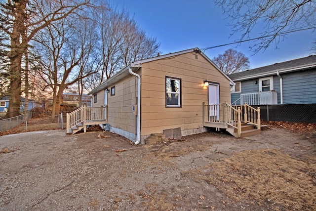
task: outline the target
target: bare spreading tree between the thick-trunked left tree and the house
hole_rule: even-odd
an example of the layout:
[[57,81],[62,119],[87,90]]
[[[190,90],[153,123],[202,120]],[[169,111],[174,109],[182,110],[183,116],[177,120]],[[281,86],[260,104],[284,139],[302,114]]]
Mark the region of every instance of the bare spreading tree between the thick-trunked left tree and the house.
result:
[[85,21],[88,19],[67,17],[47,26],[35,37],[40,74],[53,93],[52,120],[60,112],[65,88],[95,73],[94,68],[87,70],[84,64],[95,44],[93,29],[88,29]]

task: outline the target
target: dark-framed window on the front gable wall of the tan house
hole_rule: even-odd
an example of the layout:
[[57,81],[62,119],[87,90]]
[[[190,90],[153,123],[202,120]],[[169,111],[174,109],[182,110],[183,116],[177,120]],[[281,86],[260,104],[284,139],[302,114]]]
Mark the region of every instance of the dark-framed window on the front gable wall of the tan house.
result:
[[181,107],[181,79],[166,77],[166,107]]

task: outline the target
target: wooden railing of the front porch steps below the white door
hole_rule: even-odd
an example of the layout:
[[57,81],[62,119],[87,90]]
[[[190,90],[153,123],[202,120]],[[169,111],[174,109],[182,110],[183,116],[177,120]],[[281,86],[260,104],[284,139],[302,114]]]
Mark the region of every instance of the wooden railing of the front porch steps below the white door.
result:
[[260,107],[257,109],[247,105],[232,106],[228,103],[205,105],[203,103],[203,122],[211,127],[237,128],[238,137],[241,134],[241,123],[257,126],[260,130]]

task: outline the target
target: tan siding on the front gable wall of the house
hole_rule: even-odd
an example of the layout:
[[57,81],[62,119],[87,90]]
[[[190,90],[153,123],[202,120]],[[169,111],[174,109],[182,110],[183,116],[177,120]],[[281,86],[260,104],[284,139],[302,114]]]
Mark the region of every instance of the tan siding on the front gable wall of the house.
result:
[[[165,106],[166,76],[181,79],[181,108]],[[229,80],[200,55],[196,59],[194,53],[187,53],[143,64],[141,135],[175,127],[182,130],[202,128],[202,103],[208,103],[204,80],[219,83],[220,103],[230,102]]]

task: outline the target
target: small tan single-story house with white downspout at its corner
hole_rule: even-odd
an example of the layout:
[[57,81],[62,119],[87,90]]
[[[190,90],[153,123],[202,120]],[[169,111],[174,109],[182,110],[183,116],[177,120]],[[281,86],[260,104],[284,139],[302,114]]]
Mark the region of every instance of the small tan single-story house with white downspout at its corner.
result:
[[232,125],[234,130],[235,108],[226,103],[231,101],[233,84],[198,48],[135,61],[89,93],[92,108],[82,107],[77,117],[69,114],[72,123],[67,132],[80,129],[76,125],[81,117],[90,121],[82,127],[108,124],[112,132],[136,144],[174,128],[182,136],[204,132],[206,127]]

